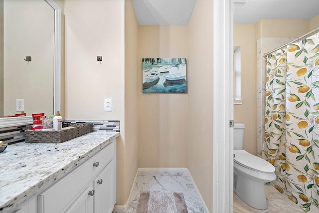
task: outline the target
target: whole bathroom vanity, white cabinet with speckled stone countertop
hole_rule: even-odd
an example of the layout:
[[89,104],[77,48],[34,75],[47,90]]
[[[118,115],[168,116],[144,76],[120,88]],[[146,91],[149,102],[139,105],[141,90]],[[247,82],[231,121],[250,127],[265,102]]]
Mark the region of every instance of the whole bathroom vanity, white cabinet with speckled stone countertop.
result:
[[8,146],[0,153],[0,212],[111,213],[118,136],[91,132],[60,144]]

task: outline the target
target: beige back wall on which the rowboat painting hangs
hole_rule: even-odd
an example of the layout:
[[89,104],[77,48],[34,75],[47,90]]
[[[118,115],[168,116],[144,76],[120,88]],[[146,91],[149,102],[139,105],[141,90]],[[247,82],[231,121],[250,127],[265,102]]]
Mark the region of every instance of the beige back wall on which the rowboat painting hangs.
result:
[[187,59],[187,26],[140,25],[138,49],[139,167],[185,168],[188,94],[144,94],[142,58]]

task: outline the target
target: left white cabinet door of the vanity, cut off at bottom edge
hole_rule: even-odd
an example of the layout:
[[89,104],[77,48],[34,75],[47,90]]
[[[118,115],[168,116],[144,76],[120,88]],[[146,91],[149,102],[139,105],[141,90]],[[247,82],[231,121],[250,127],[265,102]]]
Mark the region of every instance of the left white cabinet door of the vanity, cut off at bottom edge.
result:
[[65,213],[92,213],[93,195],[92,187],[87,187]]

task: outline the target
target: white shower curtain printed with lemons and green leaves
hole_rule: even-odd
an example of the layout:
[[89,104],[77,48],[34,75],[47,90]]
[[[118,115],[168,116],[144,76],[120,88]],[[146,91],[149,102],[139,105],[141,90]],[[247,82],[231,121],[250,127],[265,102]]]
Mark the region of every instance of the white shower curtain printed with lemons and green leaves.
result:
[[265,140],[271,184],[304,211],[319,212],[319,35],[267,56]]

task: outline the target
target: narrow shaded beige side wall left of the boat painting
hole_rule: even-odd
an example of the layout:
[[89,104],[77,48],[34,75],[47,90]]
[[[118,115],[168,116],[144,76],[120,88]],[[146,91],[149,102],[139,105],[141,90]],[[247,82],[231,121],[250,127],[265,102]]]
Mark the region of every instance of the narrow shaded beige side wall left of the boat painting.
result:
[[[131,192],[138,169],[138,23],[132,0],[125,0],[125,166],[124,201]],[[122,183],[118,183],[120,185]]]

